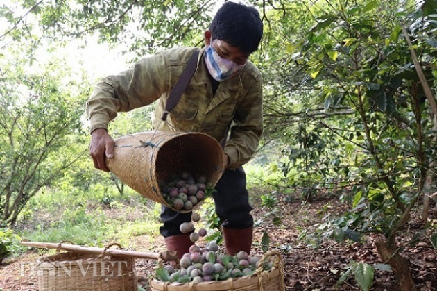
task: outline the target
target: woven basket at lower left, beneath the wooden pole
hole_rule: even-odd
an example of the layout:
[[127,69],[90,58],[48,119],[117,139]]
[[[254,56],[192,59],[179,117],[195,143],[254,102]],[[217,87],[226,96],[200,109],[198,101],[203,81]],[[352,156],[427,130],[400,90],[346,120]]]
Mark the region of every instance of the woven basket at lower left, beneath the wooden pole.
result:
[[40,291],[136,291],[135,258],[71,251],[37,260]]

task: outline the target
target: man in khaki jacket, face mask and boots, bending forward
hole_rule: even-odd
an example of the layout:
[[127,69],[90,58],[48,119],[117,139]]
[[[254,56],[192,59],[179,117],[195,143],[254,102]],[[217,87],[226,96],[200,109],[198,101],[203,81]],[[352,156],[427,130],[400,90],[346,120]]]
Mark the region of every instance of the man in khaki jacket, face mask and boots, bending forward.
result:
[[[104,78],[87,101],[92,135],[89,153],[94,167],[103,171],[108,171],[105,156],[113,157],[114,140],[107,131],[110,120],[117,112],[154,101],[155,129],[203,132],[223,142],[227,165],[213,198],[230,255],[249,253],[252,245],[252,208],[242,165],[255,153],[263,128],[262,76],[248,60],[258,48],[262,29],[255,8],[223,4],[205,31],[206,47],[200,49],[196,72],[166,122],[161,120],[166,100],[196,48],[169,49],[143,58],[132,69]],[[162,206],[161,220],[167,249],[181,257],[193,244],[189,234],[179,230],[182,222],[191,221],[191,213]]]

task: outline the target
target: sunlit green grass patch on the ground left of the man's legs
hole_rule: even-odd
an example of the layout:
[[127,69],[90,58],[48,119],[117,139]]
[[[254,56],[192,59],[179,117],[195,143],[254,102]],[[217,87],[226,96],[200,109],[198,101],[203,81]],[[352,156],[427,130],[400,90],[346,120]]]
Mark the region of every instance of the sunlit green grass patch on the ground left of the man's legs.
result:
[[29,203],[15,231],[33,242],[123,246],[138,235],[158,235],[159,213],[160,205],[133,191],[123,196],[46,192]]

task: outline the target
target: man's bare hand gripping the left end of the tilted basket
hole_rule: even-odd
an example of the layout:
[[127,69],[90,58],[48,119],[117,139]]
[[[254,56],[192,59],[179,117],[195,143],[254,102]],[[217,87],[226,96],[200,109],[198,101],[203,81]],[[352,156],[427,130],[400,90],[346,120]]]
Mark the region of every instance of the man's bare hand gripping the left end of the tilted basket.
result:
[[114,157],[114,140],[105,128],[97,128],[91,133],[91,144],[89,144],[89,155],[92,157],[94,167],[109,172],[105,164],[107,158]]

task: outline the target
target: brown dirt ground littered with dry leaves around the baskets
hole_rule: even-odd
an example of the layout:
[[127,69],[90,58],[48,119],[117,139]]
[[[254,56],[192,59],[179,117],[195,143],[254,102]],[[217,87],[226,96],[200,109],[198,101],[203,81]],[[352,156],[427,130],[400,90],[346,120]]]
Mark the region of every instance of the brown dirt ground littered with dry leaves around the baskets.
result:
[[[302,229],[308,233],[314,231],[314,226],[319,224],[326,213],[341,213],[345,206],[338,200],[318,199],[301,203],[281,202],[280,213],[282,224],[263,224],[263,229],[268,229],[271,241],[271,250],[280,251],[284,263],[285,290],[359,290],[353,276],[341,285],[336,286],[345,267],[354,260],[358,263],[384,263],[380,260],[375,248],[375,235],[370,235],[364,242],[335,242],[327,240],[318,245],[317,248],[309,247],[300,238]],[[257,218],[265,217],[264,209],[255,209],[253,215]],[[437,211],[434,209],[430,219],[437,223]],[[411,219],[406,229],[417,229],[420,225],[419,219]],[[405,231],[402,240],[409,240],[409,231]],[[164,242],[157,238],[153,246],[149,238],[133,238],[135,244],[142,245],[147,251],[163,251]],[[253,253],[262,255],[259,242],[262,239],[262,229],[255,228]],[[409,268],[415,281],[417,290],[437,290],[437,252],[431,246],[429,240],[423,240],[408,247],[409,244],[402,244],[404,248],[400,251],[402,256],[409,259]],[[406,246],[406,247],[405,247]],[[142,251],[138,249],[138,251]],[[37,276],[33,267],[38,258],[35,250],[30,250],[15,260],[6,260],[0,265],[0,290],[37,290]],[[136,270],[139,285],[148,290],[148,281],[153,276],[155,260],[136,260]],[[370,290],[400,290],[393,272],[375,269],[375,278]]]

